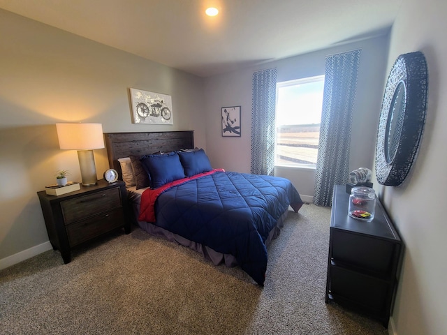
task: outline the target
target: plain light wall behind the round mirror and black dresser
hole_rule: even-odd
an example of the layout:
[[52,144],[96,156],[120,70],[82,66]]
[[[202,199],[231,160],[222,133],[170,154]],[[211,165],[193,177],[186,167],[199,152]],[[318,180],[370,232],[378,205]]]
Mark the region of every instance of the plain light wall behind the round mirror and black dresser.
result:
[[379,193],[406,249],[392,330],[447,334],[447,1],[404,0],[390,38],[388,71],[400,54],[422,51],[429,71],[427,121],[413,169]]

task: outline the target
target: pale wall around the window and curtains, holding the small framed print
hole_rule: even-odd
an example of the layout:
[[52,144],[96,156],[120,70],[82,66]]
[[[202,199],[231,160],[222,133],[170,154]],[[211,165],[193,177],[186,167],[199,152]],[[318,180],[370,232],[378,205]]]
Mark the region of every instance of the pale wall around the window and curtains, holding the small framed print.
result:
[[[372,168],[383,83],[386,76],[388,35],[206,78],[207,154],[214,166],[237,172],[250,172],[251,76],[255,70],[277,67],[278,82],[323,75],[325,57],[328,54],[359,48],[362,49],[362,54],[353,113],[350,165],[351,170],[360,167]],[[234,105],[242,106],[242,136],[221,137],[221,107]],[[300,194],[305,196],[305,200],[312,201],[315,170],[277,168],[275,174],[290,179]]]

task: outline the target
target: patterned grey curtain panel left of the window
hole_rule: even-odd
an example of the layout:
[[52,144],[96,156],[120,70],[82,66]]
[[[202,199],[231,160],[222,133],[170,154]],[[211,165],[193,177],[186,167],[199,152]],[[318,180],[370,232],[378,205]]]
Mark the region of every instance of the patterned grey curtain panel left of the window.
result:
[[277,69],[253,73],[251,97],[251,173],[274,174],[274,113]]

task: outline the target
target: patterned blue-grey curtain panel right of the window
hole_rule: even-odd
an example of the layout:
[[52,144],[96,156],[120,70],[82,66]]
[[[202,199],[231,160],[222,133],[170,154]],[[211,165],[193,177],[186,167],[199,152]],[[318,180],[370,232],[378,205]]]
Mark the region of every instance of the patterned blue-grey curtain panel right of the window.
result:
[[331,206],[334,185],[346,184],[348,178],[360,52],[354,50],[326,57],[314,195],[314,204],[320,206]]

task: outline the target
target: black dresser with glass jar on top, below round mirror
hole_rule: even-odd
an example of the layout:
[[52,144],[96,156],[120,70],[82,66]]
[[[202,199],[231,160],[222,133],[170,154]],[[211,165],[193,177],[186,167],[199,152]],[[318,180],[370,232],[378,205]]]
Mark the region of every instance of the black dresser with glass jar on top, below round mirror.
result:
[[325,301],[367,314],[388,327],[403,244],[376,198],[374,219],[348,215],[349,194],[334,187]]

